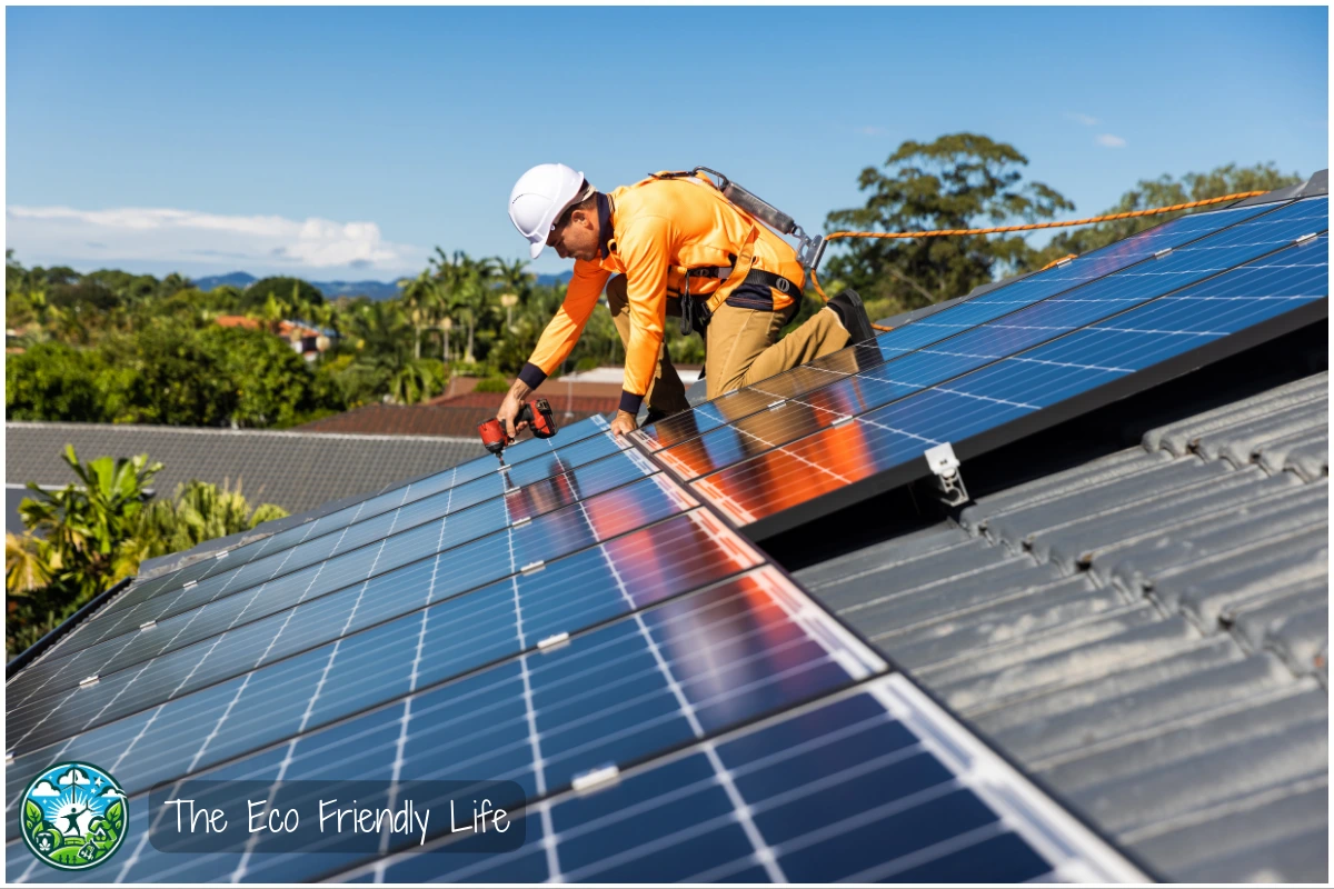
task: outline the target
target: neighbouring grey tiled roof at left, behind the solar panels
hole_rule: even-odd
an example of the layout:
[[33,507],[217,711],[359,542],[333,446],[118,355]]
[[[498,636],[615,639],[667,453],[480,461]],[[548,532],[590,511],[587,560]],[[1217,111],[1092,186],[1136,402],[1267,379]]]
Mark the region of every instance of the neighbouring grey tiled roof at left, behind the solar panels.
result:
[[159,496],[197,478],[241,485],[252,504],[288,512],[375,492],[410,476],[484,454],[476,428],[467,437],[311,435],[81,423],[7,423],[5,481],[65,485],[75,481],[61,454],[72,444],[80,460],[147,453],[163,464]]

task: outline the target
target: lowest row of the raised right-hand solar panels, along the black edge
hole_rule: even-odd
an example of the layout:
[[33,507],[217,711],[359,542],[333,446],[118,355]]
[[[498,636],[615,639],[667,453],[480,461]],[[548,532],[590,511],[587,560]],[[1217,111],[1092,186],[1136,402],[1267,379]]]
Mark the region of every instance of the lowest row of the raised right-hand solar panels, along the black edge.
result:
[[[1303,204],[1293,209],[1314,211],[1327,224],[1325,199]],[[1310,216],[1302,221],[1310,224]],[[1045,344],[986,356],[978,369],[956,365],[960,373],[947,383],[895,380],[904,395],[886,407],[735,462],[691,488],[763,538],[928,474],[922,454],[934,445],[951,443],[960,460],[976,456],[1327,317],[1327,236],[1309,237]]]

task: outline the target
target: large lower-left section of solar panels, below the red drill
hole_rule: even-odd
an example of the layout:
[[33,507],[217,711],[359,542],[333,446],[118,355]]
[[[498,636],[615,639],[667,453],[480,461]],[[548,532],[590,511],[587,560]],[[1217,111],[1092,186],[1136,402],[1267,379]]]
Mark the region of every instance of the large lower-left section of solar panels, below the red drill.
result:
[[[751,814],[760,797],[748,794],[762,786],[734,784],[731,765],[720,764],[752,768],[747,732],[832,704],[830,696],[867,698],[866,682],[887,665],[600,419],[507,456],[506,468],[484,457],[144,580],[15,676],[5,714],[7,877],[81,876],[49,870],[17,848],[15,802],[37,770],[61,761],[96,762],[129,794],[129,840],[88,872],[95,881],[288,882],[355,876],[350,869],[376,862],[380,878],[407,878],[394,868],[446,877],[468,860],[281,853],[259,840],[240,854],[160,852],[149,842],[151,820],[167,810],[149,810],[149,789],[200,776],[275,785],[512,781],[519,796],[496,802],[530,812],[536,825],[520,852],[540,850],[548,876],[592,878],[598,868],[576,864],[576,849],[594,828],[556,825],[598,800],[614,802],[631,786],[615,780],[619,770],[659,774],[680,768],[683,756],[719,764],[714,780],[731,808],[708,817],[742,825],[751,844],[742,858],[755,873],[779,878],[798,868],[782,864],[779,834],[766,840],[763,818]],[[896,730],[884,754],[916,764],[904,744],[926,741],[903,741],[907,729]],[[736,732],[715,749],[715,738]],[[830,742],[812,740],[808,753],[767,774],[788,780],[820,768]],[[859,749],[874,752],[874,744]],[[1119,857],[1069,817],[1053,816],[1066,837],[1053,845],[1053,828],[1015,814],[1009,797],[956,793],[972,780],[968,768],[934,765],[930,774],[948,786],[932,790],[940,801],[923,797],[927,808],[914,816],[946,806],[931,817],[948,837],[923,834],[920,848],[890,850],[882,864],[892,857],[906,868],[958,852],[966,856],[952,866],[971,861],[979,878],[1121,873]],[[904,781],[895,793],[915,801],[926,773],[903,769],[884,780]],[[583,786],[607,774],[606,790]],[[814,786],[823,785],[806,792]],[[1006,786],[1033,796],[1018,776]],[[716,794],[706,797],[716,809]],[[948,826],[960,818],[976,826]],[[660,842],[666,850],[674,840]],[[810,838],[807,846],[802,873],[819,873],[827,845]],[[740,860],[727,868],[751,873]]]

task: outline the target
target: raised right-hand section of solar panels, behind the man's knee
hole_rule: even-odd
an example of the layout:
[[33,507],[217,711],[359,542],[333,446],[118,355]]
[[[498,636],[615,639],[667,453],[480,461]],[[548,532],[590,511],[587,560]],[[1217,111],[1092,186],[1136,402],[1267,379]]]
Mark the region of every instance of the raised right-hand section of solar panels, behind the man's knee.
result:
[[1250,341],[1233,335],[1326,317],[1327,229],[1323,196],[1181,217],[636,440],[762,540],[928,474],[931,446],[974,456],[1065,416],[1047,408],[1089,409],[1177,372],[1173,359]]

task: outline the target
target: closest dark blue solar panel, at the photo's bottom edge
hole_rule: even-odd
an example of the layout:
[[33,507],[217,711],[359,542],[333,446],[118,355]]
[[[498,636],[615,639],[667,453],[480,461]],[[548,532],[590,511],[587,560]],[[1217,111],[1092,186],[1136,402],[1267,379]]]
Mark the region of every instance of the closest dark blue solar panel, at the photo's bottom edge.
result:
[[[996,793],[999,786],[1017,793]],[[1097,845],[899,676],[694,744],[627,772],[608,790],[564,793],[526,817],[530,842],[510,854],[470,854],[464,844],[435,861],[400,854],[344,876],[394,882],[1138,877],[1114,854],[1079,856],[1053,841],[1063,833]]]

